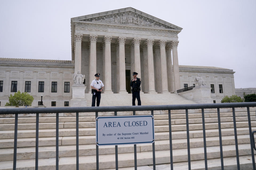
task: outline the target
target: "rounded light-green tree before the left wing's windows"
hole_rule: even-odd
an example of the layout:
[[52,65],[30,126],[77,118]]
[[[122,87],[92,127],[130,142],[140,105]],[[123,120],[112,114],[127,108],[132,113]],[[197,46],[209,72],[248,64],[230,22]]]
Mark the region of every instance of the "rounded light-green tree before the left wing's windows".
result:
[[34,97],[28,94],[27,92],[21,93],[18,91],[14,95],[10,95],[9,102],[5,106],[31,106]]

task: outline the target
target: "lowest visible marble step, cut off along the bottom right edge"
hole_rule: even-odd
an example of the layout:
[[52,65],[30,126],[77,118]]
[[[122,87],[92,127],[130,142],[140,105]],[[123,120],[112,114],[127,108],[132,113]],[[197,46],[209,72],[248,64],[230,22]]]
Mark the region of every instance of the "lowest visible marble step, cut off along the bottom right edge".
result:
[[[239,156],[240,169],[243,169],[243,170],[253,169],[253,164],[252,164],[251,159],[252,159],[251,155]],[[256,159],[256,155],[254,156],[254,159]],[[224,157],[223,164],[224,164],[225,169],[230,169],[230,170],[237,169],[236,156]],[[191,161],[190,165],[191,165],[191,170],[204,170],[205,169],[205,161],[204,160]],[[211,170],[221,169],[220,158],[207,159],[207,167],[208,167],[208,169],[211,169]],[[161,169],[161,170],[170,170],[170,163],[157,164],[155,166],[155,168]],[[134,167],[125,167],[125,168],[118,168],[118,169],[119,170],[134,170]],[[138,166],[137,169],[152,170],[153,165]],[[173,163],[173,169],[174,170],[188,169],[188,163],[187,162]],[[115,168],[102,169],[102,170],[115,170]]]

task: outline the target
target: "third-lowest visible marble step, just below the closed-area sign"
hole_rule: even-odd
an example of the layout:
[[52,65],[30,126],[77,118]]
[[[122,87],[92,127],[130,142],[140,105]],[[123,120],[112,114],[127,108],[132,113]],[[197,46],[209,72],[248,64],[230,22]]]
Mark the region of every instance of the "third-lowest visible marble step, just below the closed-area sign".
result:
[[[250,135],[238,135],[238,144],[250,143]],[[223,136],[222,145],[235,144],[234,136]],[[256,138],[255,138],[256,139]],[[173,139],[173,149],[187,148],[187,139]],[[219,146],[219,137],[206,137],[206,146]],[[203,147],[203,138],[191,138],[190,148]],[[120,145],[118,146],[118,153],[129,153],[134,152],[133,145]],[[155,141],[155,150],[169,150],[169,140]],[[39,158],[54,158],[55,157],[55,146],[42,146],[38,148]],[[152,151],[152,144],[140,144],[137,145],[137,152]],[[100,146],[99,154],[114,154],[114,146]],[[96,145],[79,145],[79,155],[95,155]],[[59,157],[75,156],[76,146],[67,145],[59,146]],[[17,159],[34,159],[35,158],[35,147],[23,147],[17,148]],[[13,160],[13,148],[0,149],[0,161]]]

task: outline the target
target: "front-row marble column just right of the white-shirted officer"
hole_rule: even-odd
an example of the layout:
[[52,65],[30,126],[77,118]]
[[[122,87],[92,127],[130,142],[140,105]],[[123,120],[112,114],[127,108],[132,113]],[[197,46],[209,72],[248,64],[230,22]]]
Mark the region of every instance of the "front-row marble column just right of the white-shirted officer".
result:
[[104,93],[113,93],[111,86],[111,40],[112,36],[104,36],[105,42],[105,82]]

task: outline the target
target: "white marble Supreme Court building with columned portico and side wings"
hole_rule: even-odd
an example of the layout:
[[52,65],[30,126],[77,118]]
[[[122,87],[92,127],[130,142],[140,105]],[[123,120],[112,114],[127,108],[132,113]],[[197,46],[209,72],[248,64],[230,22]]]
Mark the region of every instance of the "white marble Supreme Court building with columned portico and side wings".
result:
[[71,18],[71,61],[0,58],[1,106],[18,90],[34,97],[32,106],[41,95],[47,107],[68,106],[78,71],[85,75],[85,93],[90,93],[95,73],[101,74],[105,94],[130,93],[135,71],[144,94],[176,93],[194,86],[201,74],[216,103],[233,95],[233,70],[178,64],[181,30],[131,7]]

